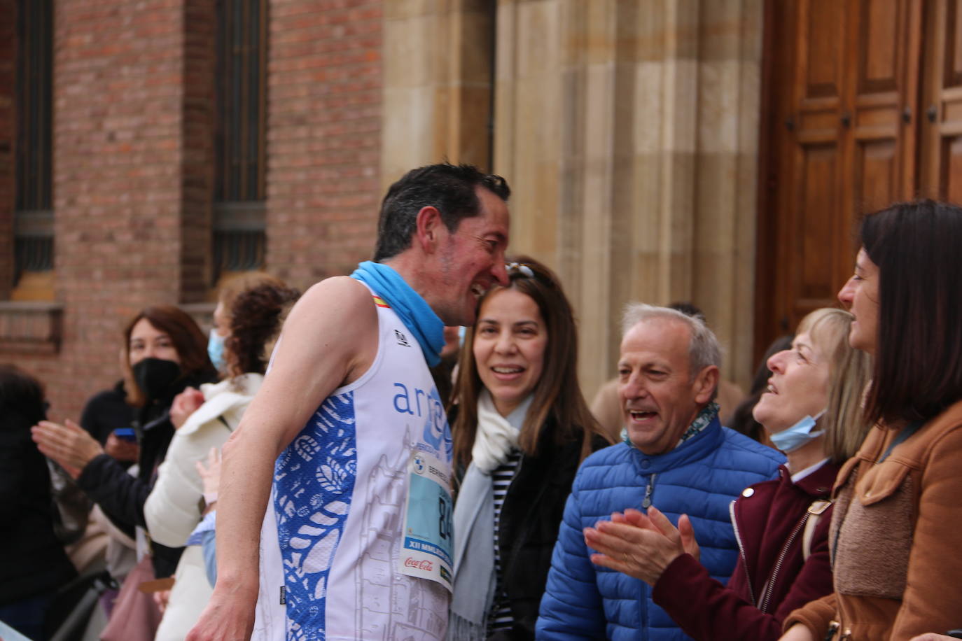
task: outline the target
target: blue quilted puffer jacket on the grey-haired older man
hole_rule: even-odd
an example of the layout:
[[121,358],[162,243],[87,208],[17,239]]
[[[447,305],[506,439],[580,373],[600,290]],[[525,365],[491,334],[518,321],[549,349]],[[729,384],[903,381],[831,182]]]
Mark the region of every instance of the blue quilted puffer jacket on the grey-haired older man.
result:
[[785,457],[716,418],[668,454],[646,456],[620,443],[596,452],[574,479],[537,626],[539,639],[688,639],[651,601],[651,587],[595,566],[583,528],[627,507],[641,509],[651,483],[651,504],[677,525],[688,514],[701,562],[715,579],[728,580],[738,544],[728,504],[752,483],[773,479]]

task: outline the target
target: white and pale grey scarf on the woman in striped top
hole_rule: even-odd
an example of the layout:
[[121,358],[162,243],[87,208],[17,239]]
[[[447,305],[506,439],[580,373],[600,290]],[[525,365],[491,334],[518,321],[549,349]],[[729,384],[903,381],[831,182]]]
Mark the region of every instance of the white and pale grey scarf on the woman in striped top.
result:
[[[488,637],[488,613],[494,604],[494,484],[491,473],[518,449],[518,434],[531,397],[505,418],[491,393],[478,397],[478,427],[471,463],[454,504],[454,594],[447,638]],[[517,426],[517,427],[515,427]]]

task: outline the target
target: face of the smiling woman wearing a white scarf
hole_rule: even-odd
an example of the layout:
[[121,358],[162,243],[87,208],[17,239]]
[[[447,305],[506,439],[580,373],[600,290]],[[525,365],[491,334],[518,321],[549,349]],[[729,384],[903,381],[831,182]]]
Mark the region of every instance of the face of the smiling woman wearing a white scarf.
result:
[[546,346],[547,328],[530,296],[500,289],[485,299],[474,331],[474,364],[502,416],[538,384]]

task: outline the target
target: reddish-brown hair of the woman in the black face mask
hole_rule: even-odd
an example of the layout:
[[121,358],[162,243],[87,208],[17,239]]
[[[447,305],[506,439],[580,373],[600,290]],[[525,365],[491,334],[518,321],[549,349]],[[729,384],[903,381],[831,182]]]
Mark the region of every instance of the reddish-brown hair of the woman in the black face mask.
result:
[[130,366],[130,334],[141,318],[147,319],[154,329],[170,336],[181,361],[181,379],[191,376],[216,378],[217,370],[211,363],[211,357],[207,355],[207,336],[200,331],[189,313],[173,305],[143,308],[130,319],[123,331],[124,378],[133,382],[132,388],[127,390],[128,403],[140,407],[148,400],[139,388]]

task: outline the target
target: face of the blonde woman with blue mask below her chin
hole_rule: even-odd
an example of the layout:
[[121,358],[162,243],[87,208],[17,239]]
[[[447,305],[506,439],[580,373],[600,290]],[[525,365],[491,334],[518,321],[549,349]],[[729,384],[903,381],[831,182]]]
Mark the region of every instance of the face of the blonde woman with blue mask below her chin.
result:
[[768,391],[752,410],[769,433],[787,430],[828,403],[828,359],[808,333],[799,333],[792,349],[773,354]]

